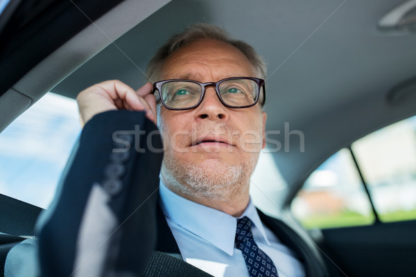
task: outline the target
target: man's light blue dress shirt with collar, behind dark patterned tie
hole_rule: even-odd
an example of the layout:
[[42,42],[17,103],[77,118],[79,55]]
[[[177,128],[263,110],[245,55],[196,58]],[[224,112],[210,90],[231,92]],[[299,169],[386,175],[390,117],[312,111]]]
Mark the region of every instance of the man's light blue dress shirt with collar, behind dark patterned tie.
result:
[[[236,217],[180,197],[162,181],[159,194],[162,211],[186,262],[213,276],[249,276],[243,254],[234,247]],[[263,226],[251,200],[244,216],[253,222],[254,240],[275,263],[280,277],[305,276],[293,251]]]

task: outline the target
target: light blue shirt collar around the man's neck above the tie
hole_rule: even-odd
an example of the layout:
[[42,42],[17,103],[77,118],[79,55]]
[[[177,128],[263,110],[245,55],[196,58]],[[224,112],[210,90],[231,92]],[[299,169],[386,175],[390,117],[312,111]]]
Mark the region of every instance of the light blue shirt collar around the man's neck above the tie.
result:
[[[236,217],[218,211],[214,208],[192,202],[169,190],[160,181],[159,194],[162,211],[169,220],[187,231],[207,240],[228,255],[234,253],[234,240],[236,235]],[[247,216],[259,229],[267,244],[270,245],[261,223],[259,214],[251,202],[241,217]]]

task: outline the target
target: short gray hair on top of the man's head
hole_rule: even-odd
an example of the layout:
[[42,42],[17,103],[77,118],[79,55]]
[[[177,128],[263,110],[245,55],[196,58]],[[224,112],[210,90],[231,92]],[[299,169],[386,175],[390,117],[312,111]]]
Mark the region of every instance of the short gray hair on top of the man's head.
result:
[[191,42],[196,42],[200,39],[216,39],[220,42],[225,42],[236,47],[252,64],[254,67],[254,73],[257,74],[256,77],[266,79],[266,63],[263,58],[257,54],[256,51],[254,51],[252,46],[242,42],[241,40],[232,39],[232,37],[230,37],[223,28],[207,23],[198,23],[189,26],[182,33],[171,37],[166,44],[159,48],[156,55],[148,63],[146,70],[148,79],[153,82],[159,80],[162,65],[168,55],[171,55],[171,53],[182,46],[190,44]]

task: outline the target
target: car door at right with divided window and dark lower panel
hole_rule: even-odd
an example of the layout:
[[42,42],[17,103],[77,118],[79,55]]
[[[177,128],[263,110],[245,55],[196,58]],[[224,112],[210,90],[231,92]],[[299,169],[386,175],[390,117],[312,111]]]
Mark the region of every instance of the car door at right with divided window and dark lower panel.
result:
[[416,116],[333,154],[291,212],[333,276],[416,276]]

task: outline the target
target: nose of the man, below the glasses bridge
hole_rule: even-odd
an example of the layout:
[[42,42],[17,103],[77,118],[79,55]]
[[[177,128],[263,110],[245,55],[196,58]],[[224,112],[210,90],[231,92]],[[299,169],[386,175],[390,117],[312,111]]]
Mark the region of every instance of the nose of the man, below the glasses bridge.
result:
[[227,107],[218,98],[214,87],[207,87],[205,89],[205,96],[200,105],[196,108],[196,116],[200,119],[210,120],[227,120]]

